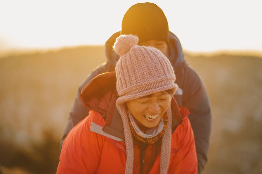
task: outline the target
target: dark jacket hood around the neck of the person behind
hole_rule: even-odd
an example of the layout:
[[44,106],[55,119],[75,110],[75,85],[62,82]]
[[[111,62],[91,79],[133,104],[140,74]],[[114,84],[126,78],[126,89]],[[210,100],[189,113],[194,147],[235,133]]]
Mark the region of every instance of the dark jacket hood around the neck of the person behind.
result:
[[[116,38],[120,36],[120,31],[114,33],[105,43],[105,52],[107,57],[107,63],[109,66],[115,67],[119,59],[119,55],[112,50],[112,46],[115,43]],[[168,43],[168,59],[173,67],[178,66],[184,62],[184,53],[181,43],[174,33],[169,31],[169,43]]]

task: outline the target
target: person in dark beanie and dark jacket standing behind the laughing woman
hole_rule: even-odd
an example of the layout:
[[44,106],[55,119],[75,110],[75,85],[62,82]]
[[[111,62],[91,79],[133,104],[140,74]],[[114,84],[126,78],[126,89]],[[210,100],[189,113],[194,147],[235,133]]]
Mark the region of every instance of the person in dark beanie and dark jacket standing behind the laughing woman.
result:
[[107,62],[94,70],[79,87],[61,139],[60,150],[62,142],[69,131],[88,115],[88,110],[81,104],[79,98],[82,88],[98,74],[114,71],[119,57],[112,50],[112,45],[120,34],[137,35],[139,45],[155,47],[170,60],[179,87],[174,95],[175,99],[178,105],[188,108],[191,113],[189,119],[195,135],[198,174],[201,173],[207,162],[211,130],[211,111],[208,95],[200,77],[185,62],[180,41],[168,30],[168,21],[165,14],[157,5],[148,2],[135,4],[128,9],[122,20],[122,30],[113,34],[105,44]]

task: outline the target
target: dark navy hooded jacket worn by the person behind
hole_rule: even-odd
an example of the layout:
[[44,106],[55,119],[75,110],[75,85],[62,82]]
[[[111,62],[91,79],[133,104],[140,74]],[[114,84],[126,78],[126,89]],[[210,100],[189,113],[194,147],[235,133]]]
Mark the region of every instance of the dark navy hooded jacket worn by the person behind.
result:
[[[74,105],[71,109],[67,126],[60,143],[60,151],[64,138],[69,131],[88,115],[88,110],[81,104],[79,95],[85,85],[98,74],[115,70],[118,55],[112,50],[115,39],[120,32],[113,34],[105,43],[107,62],[97,67],[87,76],[78,89]],[[174,67],[178,91],[174,97],[178,105],[190,111],[188,116],[194,131],[198,157],[198,174],[203,170],[208,157],[209,137],[211,131],[211,110],[205,86],[198,74],[184,60],[184,53],[178,38],[170,32],[168,43],[168,59]]]

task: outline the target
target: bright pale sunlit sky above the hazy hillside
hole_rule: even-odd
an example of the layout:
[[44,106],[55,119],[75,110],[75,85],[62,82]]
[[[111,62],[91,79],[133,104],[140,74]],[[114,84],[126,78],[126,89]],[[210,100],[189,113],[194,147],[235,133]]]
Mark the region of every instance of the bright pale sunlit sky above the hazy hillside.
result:
[[[146,1],[0,0],[0,51],[103,45],[130,6]],[[262,52],[261,0],[150,1],[192,52]]]

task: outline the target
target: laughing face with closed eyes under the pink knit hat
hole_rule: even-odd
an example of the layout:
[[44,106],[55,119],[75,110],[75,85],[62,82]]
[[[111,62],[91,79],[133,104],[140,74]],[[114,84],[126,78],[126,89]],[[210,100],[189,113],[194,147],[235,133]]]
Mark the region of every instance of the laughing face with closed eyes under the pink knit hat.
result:
[[171,95],[166,91],[156,92],[126,103],[132,116],[142,125],[151,128],[157,126],[170,106]]

